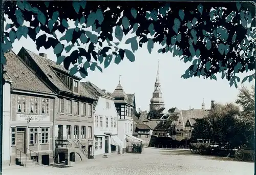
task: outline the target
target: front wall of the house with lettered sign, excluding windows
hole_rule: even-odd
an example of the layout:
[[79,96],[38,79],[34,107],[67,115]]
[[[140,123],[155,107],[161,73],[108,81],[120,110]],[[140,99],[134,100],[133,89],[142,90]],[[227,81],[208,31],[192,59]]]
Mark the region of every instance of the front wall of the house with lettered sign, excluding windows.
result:
[[[26,97],[26,113],[18,112],[18,95],[23,95]],[[30,103],[29,100],[31,97],[38,98],[38,114],[31,114],[30,113]],[[48,98],[49,99],[49,114],[42,114],[41,113],[41,99]],[[22,117],[23,116],[23,117]],[[32,117],[31,121],[28,123],[28,118],[26,116]],[[39,119],[36,117],[45,117],[42,121],[34,120]],[[17,128],[23,127],[26,129],[25,131],[25,145],[26,148],[39,152],[40,154],[49,154],[52,155],[52,145],[53,145],[53,97],[42,96],[42,94],[32,95],[32,94],[11,94],[11,115],[10,115],[10,125],[11,130],[12,128],[15,129],[15,145],[11,145],[11,163],[15,163],[16,157],[16,134]],[[30,144],[30,129],[37,128],[38,135],[37,135],[37,143]],[[48,143],[39,143],[39,134],[41,133],[41,128],[48,128]],[[12,135],[10,136],[10,140],[12,140]],[[10,143],[10,142],[9,142]],[[26,150],[30,152],[30,150]]]

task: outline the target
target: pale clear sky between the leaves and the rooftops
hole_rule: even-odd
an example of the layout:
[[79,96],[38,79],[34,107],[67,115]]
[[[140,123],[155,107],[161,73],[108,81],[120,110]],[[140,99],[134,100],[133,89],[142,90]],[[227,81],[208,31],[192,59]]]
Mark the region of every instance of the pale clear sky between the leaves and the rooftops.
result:
[[[7,23],[10,21],[7,20]],[[5,28],[5,27],[4,27]],[[57,33],[56,33],[57,34]],[[41,35],[41,32],[37,35]],[[131,35],[123,37],[123,43],[120,43],[120,48],[125,45],[124,42]],[[57,34],[57,37],[60,36]],[[67,42],[66,42],[67,43]],[[46,53],[47,57],[53,61],[57,58],[53,53],[53,48],[45,50],[41,48],[39,51],[36,45],[29,37],[26,39],[22,37],[19,41],[16,39],[13,44],[13,51],[17,54],[19,50],[25,47],[34,53]],[[125,46],[125,48],[131,48]],[[150,99],[154,92],[154,83],[156,81],[157,63],[160,60],[160,82],[161,91],[163,93],[164,104],[166,108],[178,107],[180,110],[187,110],[191,108],[201,108],[203,99],[206,103],[206,108],[210,108],[210,101],[215,100],[218,103],[234,102],[239,93],[234,85],[230,88],[229,82],[226,79],[221,79],[221,75],[217,75],[216,80],[203,79],[202,77],[193,77],[189,79],[181,78],[185,73],[191,62],[184,63],[179,57],[173,57],[168,52],[159,54],[157,51],[160,45],[154,45],[152,53],[148,53],[146,44],[143,48],[139,48],[135,52],[135,62],[130,62],[126,57],[119,63],[114,63],[114,58],[108,68],[101,68],[101,73],[97,68],[94,72],[89,71],[89,76],[82,81],[91,81],[100,89],[113,92],[118,84],[119,75],[121,75],[121,85],[125,93],[135,93],[136,108],[141,110],[149,110]],[[70,52],[71,53],[71,52]],[[64,54],[67,55],[67,54]],[[93,60],[93,58],[92,58]],[[238,76],[242,79],[251,75],[253,72],[244,72]],[[76,74],[79,76],[79,73]],[[243,85],[250,87],[254,84],[254,80],[250,83],[246,81]],[[241,83],[238,83],[238,88]]]

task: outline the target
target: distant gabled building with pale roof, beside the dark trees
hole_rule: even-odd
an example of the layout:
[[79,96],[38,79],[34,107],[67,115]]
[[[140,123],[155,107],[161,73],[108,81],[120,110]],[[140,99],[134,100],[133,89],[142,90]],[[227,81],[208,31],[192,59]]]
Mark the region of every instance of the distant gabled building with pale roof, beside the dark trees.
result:
[[[214,107],[214,101],[211,102],[211,106]],[[185,139],[190,139],[192,128],[186,127],[186,125],[193,125],[196,119],[202,119],[206,117],[209,114],[209,111],[210,110],[205,110],[204,102],[202,103],[202,108],[200,110],[181,110],[176,126],[176,140],[182,141]],[[185,138],[186,136],[187,138]]]

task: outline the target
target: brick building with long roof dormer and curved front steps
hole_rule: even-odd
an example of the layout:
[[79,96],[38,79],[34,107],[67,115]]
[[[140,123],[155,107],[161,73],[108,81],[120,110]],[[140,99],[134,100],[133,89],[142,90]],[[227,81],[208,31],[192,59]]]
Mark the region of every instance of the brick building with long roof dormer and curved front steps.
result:
[[95,98],[80,84],[81,78],[71,76],[63,65],[25,48],[18,56],[50,89],[57,94],[53,101],[54,157],[56,163],[69,164],[93,158]]

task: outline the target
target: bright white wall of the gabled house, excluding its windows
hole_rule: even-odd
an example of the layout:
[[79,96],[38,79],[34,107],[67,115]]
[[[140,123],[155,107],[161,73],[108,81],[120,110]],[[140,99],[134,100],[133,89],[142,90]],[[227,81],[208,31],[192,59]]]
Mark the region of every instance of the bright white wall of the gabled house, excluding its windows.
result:
[[[106,108],[106,103],[110,104],[110,108]],[[111,135],[117,135],[117,128],[118,128],[118,115],[116,111],[116,107],[114,101],[112,99],[106,98],[104,96],[100,96],[95,107],[95,114],[94,116],[98,116],[98,122],[96,122],[96,118],[94,121],[94,135],[96,136],[103,136],[104,133],[110,133]],[[100,117],[102,117],[102,127],[100,127]],[[106,117],[108,117],[108,128],[106,127]],[[113,127],[111,127],[111,117],[113,117]],[[116,127],[114,127],[114,118],[116,118]],[[98,125],[96,126],[96,123]],[[94,144],[95,144],[95,137],[94,137]],[[98,148],[94,149],[94,155],[102,155],[105,153],[105,138],[102,137],[102,148],[99,148],[99,139],[98,139]],[[94,146],[95,148],[95,146]],[[111,150],[111,137],[109,137],[109,152]]]

